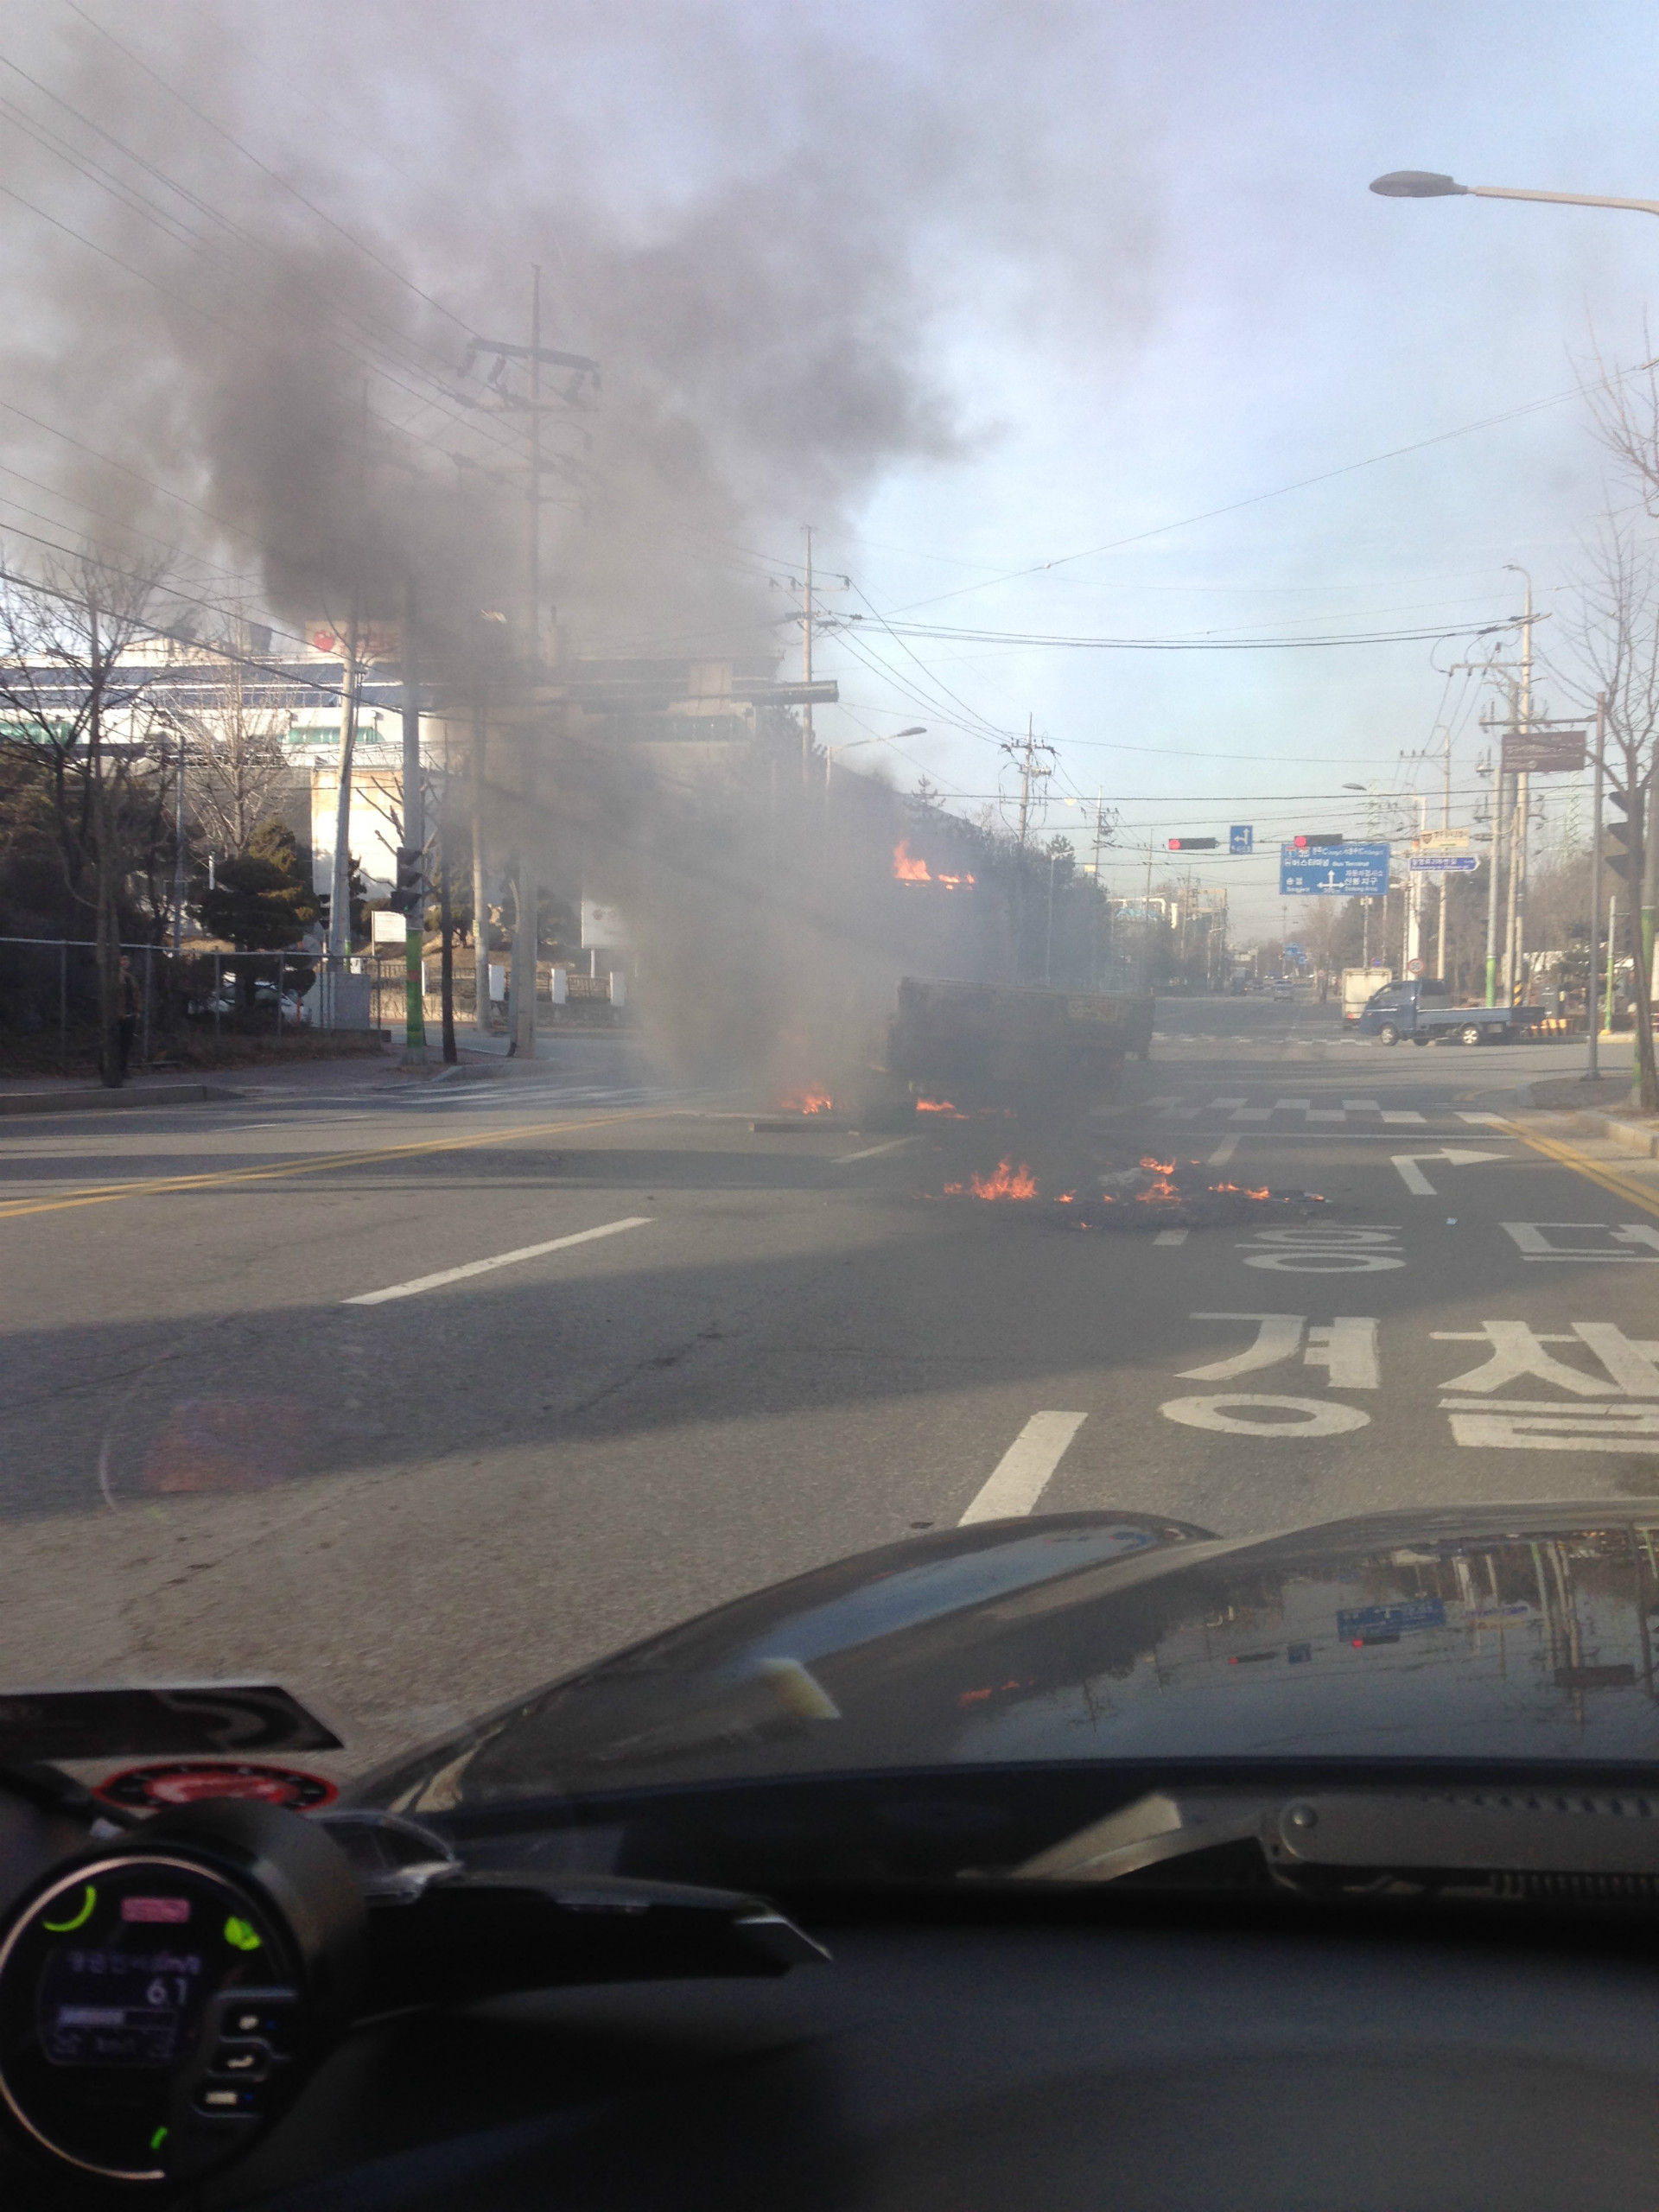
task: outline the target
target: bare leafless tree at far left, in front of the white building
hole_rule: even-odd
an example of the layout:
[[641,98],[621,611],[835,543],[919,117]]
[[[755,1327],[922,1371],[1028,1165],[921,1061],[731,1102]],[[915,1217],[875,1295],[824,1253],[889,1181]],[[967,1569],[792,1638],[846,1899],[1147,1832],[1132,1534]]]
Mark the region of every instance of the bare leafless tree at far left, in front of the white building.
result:
[[157,571],[84,553],[35,582],[0,577],[0,743],[44,761],[64,885],[97,947],[97,1071],[122,1082],[119,905],[157,821],[146,692],[164,666],[133,664],[153,633]]

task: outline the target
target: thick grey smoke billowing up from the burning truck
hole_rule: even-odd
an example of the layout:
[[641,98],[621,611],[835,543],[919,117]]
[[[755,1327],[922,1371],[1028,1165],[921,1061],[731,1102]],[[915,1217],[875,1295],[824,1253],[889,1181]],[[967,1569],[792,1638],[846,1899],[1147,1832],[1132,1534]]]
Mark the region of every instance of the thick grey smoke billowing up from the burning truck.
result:
[[[91,540],[290,626],[354,586],[396,613],[414,573],[434,672],[469,679],[480,611],[522,608],[524,445],[458,403],[491,398],[489,356],[460,372],[469,334],[526,336],[540,263],[544,343],[604,374],[546,418],[562,650],[794,655],[770,577],[799,524],[993,434],[969,292],[1035,338],[1064,319],[1084,358],[1144,312],[1095,35],[1029,4],[13,9],[9,557]],[[812,1031],[856,1031],[916,958],[916,909],[869,896],[905,834],[883,792],[814,807],[770,759],[551,768],[562,889],[608,874],[637,905],[688,1057],[805,1075]]]

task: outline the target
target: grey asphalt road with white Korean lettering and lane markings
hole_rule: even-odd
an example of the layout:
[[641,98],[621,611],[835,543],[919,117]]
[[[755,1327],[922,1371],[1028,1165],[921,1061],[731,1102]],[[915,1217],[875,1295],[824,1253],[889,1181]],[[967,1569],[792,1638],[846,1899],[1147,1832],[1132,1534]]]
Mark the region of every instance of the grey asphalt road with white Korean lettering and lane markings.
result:
[[[615,1053],[4,1121],[0,1686],[281,1679],[354,1765],[971,1513],[1659,1498],[1659,1168],[1515,1104],[1579,1057],[1210,1000],[1071,1148],[752,1133]],[[945,1194],[1009,1150],[1327,1208]]]

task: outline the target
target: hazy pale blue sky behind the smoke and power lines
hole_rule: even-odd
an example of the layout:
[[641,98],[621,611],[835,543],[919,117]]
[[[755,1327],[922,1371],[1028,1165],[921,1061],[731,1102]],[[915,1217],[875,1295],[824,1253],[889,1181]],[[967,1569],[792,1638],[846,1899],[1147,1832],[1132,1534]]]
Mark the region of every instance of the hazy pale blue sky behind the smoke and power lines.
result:
[[[88,341],[71,276],[100,243],[150,248],[104,186],[18,139],[18,115],[49,106],[24,66],[296,252],[354,254],[332,221],[367,241],[429,294],[414,312],[434,358],[522,301],[540,259],[551,343],[599,352],[624,394],[602,451],[626,467],[622,431],[648,418],[653,469],[703,502],[695,557],[734,582],[743,622],[783,617],[765,577],[799,573],[803,522],[823,571],[852,575],[825,606],[863,615],[863,635],[821,644],[845,706],[818,734],[927,723],[894,776],[925,770],[971,807],[1011,790],[998,743],[1031,714],[1055,748],[1048,827],[1082,845],[1064,801],[1097,792],[1126,845],[1358,825],[1345,781],[1438,790],[1400,754],[1438,745],[1442,712],[1473,794],[1482,701],[1436,672],[1469,653],[900,641],[878,617],[1161,639],[1475,630],[1520,606],[1504,562],[1531,568],[1542,613],[1564,606],[1582,538],[1628,502],[1573,387],[1593,345],[1644,358],[1659,221],[1387,201],[1367,181],[1411,166],[1659,197],[1652,7],[29,0],[0,60],[4,177],[31,201],[0,204],[0,389],[53,425],[4,418],[9,462],[86,495],[60,438],[86,407],[100,453],[177,491],[226,467],[223,425],[217,447],[157,429],[155,396],[115,420],[150,338],[128,345],[117,303]],[[53,113],[84,153],[95,133]],[[69,363],[93,398],[64,385]],[[394,405],[436,420],[434,400]],[[18,502],[69,526],[73,509],[4,491],[0,529]],[[681,509],[650,520],[664,498],[630,507],[637,568],[622,540],[582,555],[571,538],[566,557],[604,568],[611,606],[635,573],[628,619],[672,630],[684,608],[653,615],[646,538],[690,540]],[[787,624],[752,635],[799,653]],[[1210,880],[1248,927],[1276,925],[1270,856]]]

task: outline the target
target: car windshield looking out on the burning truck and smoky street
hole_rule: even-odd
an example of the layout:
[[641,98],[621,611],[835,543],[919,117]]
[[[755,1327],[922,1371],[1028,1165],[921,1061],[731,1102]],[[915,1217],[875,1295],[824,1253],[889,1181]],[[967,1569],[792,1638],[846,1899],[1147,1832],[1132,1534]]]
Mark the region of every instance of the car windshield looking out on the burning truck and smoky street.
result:
[[1652,1765],[1650,71],[1444,15],[11,9],[0,1756]]

